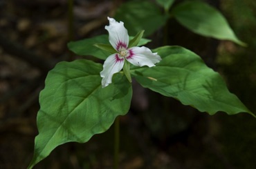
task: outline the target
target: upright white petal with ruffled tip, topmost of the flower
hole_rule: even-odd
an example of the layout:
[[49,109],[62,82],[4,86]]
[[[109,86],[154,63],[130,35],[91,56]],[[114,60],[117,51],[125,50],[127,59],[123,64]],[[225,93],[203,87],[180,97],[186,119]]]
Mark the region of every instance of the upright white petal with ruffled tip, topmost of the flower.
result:
[[115,19],[107,17],[109,19],[109,26],[105,26],[105,29],[109,31],[109,42],[116,51],[120,51],[120,48],[128,48],[129,35],[127,29],[122,21],[117,22]]

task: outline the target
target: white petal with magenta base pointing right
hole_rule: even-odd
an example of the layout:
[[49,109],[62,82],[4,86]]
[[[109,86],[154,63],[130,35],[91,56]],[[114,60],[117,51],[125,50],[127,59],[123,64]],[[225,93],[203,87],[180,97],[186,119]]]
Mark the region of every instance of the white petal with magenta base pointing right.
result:
[[157,53],[152,53],[146,47],[132,47],[129,48],[129,55],[126,57],[127,61],[135,66],[155,66],[155,63],[161,61],[161,57]]

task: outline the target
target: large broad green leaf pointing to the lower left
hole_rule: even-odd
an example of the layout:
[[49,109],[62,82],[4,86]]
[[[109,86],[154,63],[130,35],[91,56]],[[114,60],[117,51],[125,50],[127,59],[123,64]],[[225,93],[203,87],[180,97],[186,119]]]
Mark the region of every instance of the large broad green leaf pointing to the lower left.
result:
[[[47,157],[57,146],[84,143],[109,129],[118,115],[125,115],[131,102],[131,83],[115,74],[113,83],[101,86],[102,65],[87,60],[58,63],[46,77],[37,115],[39,135],[28,168]],[[118,82],[118,83],[117,83]]]

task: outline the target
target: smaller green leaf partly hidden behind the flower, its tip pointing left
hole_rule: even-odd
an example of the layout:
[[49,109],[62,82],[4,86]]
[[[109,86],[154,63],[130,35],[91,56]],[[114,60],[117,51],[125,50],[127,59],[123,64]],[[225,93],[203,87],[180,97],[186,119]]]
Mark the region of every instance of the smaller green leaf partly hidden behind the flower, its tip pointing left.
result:
[[[129,37],[129,39],[133,39],[134,37]],[[149,43],[149,39],[140,39],[140,42],[138,43],[138,46],[143,46],[147,43]],[[97,57],[99,59],[105,60],[111,52],[107,52],[105,50],[101,50],[95,46],[95,44],[102,43],[106,45],[110,45],[109,43],[109,35],[102,34],[97,37],[89,38],[89,39],[83,39],[80,41],[71,41],[68,43],[68,48],[75,54],[81,55],[81,56],[93,56]]]

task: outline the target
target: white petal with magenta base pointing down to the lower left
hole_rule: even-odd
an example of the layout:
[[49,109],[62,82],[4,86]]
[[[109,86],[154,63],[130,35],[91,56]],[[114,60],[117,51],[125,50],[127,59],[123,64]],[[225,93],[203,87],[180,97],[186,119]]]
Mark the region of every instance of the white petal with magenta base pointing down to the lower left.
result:
[[100,72],[102,77],[102,88],[108,86],[112,82],[113,74],[120,72],[124,66],[125,59],[119,58],[118,54],[111,54],[103,64],[103,70]]

